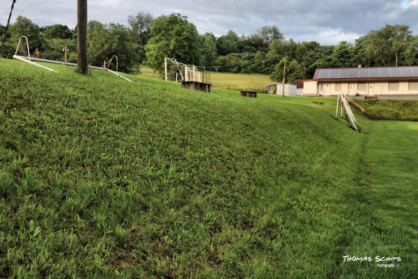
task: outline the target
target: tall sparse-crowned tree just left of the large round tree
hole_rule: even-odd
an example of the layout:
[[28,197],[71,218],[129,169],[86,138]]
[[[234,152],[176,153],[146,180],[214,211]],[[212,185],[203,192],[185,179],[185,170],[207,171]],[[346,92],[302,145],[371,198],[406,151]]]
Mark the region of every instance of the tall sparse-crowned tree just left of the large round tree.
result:
[[132,35],[139,45],[146,45],[154,20],[153,15],[150,13],[137,13],[137,15],[127,17],[127,23],[130,26]]

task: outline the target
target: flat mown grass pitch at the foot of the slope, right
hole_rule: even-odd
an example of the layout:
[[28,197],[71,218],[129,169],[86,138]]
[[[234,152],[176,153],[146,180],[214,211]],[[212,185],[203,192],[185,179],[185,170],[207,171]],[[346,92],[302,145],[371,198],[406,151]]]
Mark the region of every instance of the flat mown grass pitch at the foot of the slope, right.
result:
[[[416,278],[418,123],[372,121],[370,126],[362,157],[362,179],[353,194],[364,201],[364,220],[344,252],[373,257],[373,263],[343,263],[341,275],[370,278],[373,270],[373,278]],[[401,257],[401,265],[394,269],[378,267],[376,256]]]

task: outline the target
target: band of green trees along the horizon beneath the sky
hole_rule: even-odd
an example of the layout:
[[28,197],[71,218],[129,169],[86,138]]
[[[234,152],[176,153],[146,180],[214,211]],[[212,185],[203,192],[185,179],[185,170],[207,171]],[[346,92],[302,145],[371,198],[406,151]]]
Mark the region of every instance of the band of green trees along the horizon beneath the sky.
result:
[[[178,13],[157,18],[150,13],[137,13],[130,15],[127,22],[127,26],[95,20],[88,23],[88,59],[93,65],[101,65],[117,55],[123,72],[138,73],[141,64],[146,64],[162,73],[167,56],[208,69],[222,66],[216,68],[222,72],[266,74],[279,81],[286,62],[286,76],[293,83],[311,78],[316,68],[418,64],[418,36],[401,24],[371,31],[354,43],[320,45],[316,41],[286,39],[274,26],[262,27],[246,36],[233,31],[219,37],[199,34],[196,26]],[[0,25],[0,38],[4,29]],[[42,58],[62,60],[62,49],[67,46],[68,61],[77,61],[77,27],[39,27],[29,18],[19,16],[6,38],[6,56],[13,55],[20,36],[27,36],[31,52],[38,48]]]

